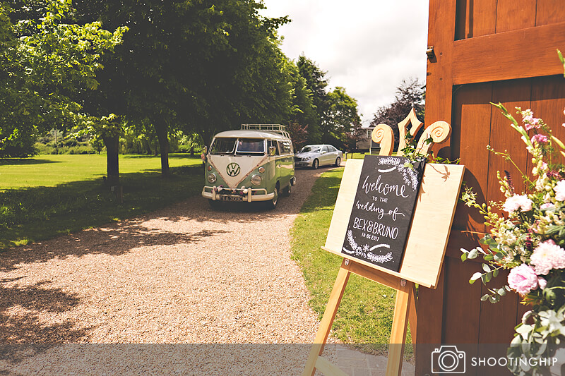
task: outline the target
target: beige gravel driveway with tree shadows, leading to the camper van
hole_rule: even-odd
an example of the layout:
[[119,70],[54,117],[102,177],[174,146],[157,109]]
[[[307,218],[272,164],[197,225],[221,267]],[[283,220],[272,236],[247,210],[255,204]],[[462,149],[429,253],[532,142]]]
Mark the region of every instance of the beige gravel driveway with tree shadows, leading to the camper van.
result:
[[289,229],[318,176],[274,211],[198,196],[0,254],[0,343],[311,343]]

